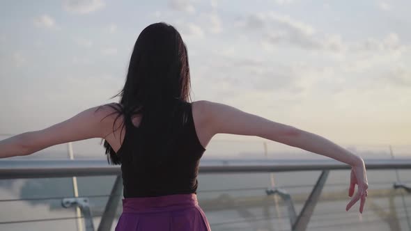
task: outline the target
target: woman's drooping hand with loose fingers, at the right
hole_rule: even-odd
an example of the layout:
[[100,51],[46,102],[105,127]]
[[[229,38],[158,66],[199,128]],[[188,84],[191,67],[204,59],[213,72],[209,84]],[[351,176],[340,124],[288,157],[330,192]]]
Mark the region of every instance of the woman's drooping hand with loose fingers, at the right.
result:
[[359,203],[359,212],[362,213],[365,205],[365,200],[367,196],[367,189],[369,188],[369,183],[366,179],[366,170],[364,160],[359,157],[359,161],[351,166],[351,176],[350,176],[350,189],[348,189],[348,196],[352,197],[355,190],[355,184],[357,184],[357,193],[351,199],[346,207],[348,211],[352,205],[354,205],[358,200],[361,199]]

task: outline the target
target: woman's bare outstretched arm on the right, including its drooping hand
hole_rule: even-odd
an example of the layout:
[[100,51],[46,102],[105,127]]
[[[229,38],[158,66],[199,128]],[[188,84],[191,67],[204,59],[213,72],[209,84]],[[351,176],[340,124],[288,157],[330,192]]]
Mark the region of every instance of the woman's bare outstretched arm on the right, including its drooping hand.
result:
[[212,134],[259,136],[271,141],[321,154],[352,166],[352,174],[354,174],[355,177],[351,179],[348,194],[352,196],[355,184],[358,184],[358,191],[355,197],[348,203],[346,210],[350,209],[357,200],[364,198],[359,209],[360,212],[362,212],[365,202],[365,196],[362,196],[362,193],[368,189],[368,182],[364,161],[361,157],[311,132],[267,120],[261,116],[241,111],[226,104],[206,100],[203,100],[203,104],[205,104],[205,111],[207,111],[208,114],[208,129],[210,129]]

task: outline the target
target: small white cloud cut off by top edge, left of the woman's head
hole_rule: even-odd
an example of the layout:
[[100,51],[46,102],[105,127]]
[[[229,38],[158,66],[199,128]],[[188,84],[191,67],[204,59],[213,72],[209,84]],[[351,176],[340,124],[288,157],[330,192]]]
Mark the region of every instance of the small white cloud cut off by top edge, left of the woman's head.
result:
[[63,5],[70,13],[87,14],[100,10],[106,4],[102,0],[65,0]]

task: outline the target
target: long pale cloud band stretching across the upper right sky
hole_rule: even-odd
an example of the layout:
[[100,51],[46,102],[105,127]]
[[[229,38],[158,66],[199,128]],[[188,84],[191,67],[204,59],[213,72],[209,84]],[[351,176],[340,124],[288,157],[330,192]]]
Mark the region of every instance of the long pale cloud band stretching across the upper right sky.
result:
[[316,29],[304,22],[293,19],[288,15],[277,13],[255,13],[244,17],[239,26],[245,29],[259,31],[261,45],[268,51],[277,45],[291,45],[302,49],[331,51],[341,54],[343,51],[352,52],[389,52],[401,51],[397,33],[389,33],[385,38],[368,38],[362,42],[346,42],[338,34],[318,33]]

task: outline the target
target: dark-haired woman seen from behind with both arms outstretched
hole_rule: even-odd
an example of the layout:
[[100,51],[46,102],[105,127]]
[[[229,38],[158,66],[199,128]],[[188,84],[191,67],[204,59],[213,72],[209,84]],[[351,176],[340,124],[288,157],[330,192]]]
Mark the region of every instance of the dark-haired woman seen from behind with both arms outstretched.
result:
[[[199,160],[215,134],[260,136],[331,157],[351,168],[361,200],[368,183],[364,161],[327,139],[232,106],[188,100],[187,48],[176,29],[147,26],[134,45],[119,104],[82,111],[59,124],[0,142],[0,157],[28,155],[51,145],[103,138],[107,161],[121,164],[123,213],[116,230],[210,230],[196,200]],[[189,102],[190,101],[190,102]]]

